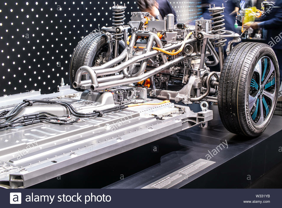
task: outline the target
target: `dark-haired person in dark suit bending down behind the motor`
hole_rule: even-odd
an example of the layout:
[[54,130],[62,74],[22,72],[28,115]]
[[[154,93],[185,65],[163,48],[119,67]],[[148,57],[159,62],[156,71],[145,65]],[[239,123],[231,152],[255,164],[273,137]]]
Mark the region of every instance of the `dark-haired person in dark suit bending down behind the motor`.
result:
[[174,24],[177,24],[176,12],[167,0],[137,0],[137,5],[141,12],[149,12],[158,20],[163,20],[166,15],[173,14]]

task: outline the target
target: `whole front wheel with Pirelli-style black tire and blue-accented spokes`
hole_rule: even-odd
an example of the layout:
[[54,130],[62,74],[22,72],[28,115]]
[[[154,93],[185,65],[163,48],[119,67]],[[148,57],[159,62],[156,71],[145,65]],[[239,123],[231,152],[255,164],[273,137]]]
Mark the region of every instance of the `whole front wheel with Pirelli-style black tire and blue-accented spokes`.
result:
[[218,109],[224,127],[235,134],[258,136],[268,126],[277,103],[279,66],[266,44],[243,42],[224,61]]

